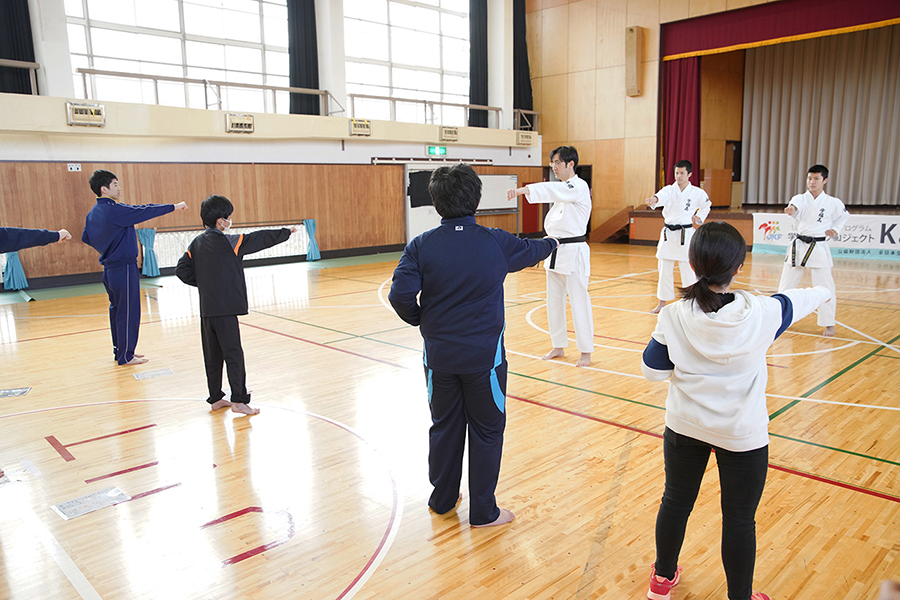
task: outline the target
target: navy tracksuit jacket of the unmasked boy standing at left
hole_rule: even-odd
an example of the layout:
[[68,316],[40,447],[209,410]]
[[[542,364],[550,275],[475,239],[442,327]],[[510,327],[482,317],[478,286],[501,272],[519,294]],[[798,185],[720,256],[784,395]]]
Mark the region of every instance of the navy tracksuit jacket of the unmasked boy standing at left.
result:
[[97,198],[84,219],[81,241],[100,253],[104,269],[137,261],[137,234],[134,226],[175,210],[174,204],[119,204],[111,198]]

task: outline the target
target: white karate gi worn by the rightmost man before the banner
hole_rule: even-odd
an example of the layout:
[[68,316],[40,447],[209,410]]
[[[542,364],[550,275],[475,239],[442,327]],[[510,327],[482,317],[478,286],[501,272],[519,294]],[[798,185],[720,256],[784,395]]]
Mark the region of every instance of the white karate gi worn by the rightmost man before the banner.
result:
[[[829,229],[834,229],[840,235],[844,223],[850,216],[850,213],[844,208],[843,202],[825,192],[819,194],[818,198],[813,198],[813,195],[807,190],[805,193],[791,198],[788,205],[797,207],[797,212],[792,217],[797,234],[814,238],[826,237],[825,232]],[[795,246],[796,254],[792,260],[791,254]],[[821,327],[834,327],[837,313],[837,290],[834,287],[834,277],[831,275],[831,267],[834,265],[831,248],[828,247],[828,240],[816,242],[812,252],[809,251],[810,246],[812,244],[801,240],[795,240],[788,244],[778,291],[783,292],[797,288],[800,280],[803,279],[803,270],[809,269],[813,286],[822,285],[831,292],[831,302],[826,302],[819,307],[816,322]],[[809,254],[808,257],[807,254]],[[801,266],[804,259],[806,259],[805,267]]]

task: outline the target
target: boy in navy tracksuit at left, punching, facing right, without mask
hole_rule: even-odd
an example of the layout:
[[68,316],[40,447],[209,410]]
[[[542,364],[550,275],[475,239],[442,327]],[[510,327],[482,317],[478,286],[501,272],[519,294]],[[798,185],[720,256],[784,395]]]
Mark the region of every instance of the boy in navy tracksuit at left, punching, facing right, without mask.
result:
[[122,186],[114,173],[99,169],[88,180],[97,195],[97,204],[84,220],[81,241],[100,253],[103,286],[109,296],[109,328],[113,337],[113,355],[120,365],[147,362],[135,354],[141,326],[140,275],[137,270],[137,233],[134,226],[187,204],[130,205],[116,202]]

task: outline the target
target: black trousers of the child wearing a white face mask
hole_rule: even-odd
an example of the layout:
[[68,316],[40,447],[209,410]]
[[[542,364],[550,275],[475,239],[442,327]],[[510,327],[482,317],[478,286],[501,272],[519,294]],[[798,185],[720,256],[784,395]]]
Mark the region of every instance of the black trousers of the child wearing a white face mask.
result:
[[203,362],[206,365],[206,385],[210,404],[225,397],[222,391],[222,363],[228,371],[231,401],[240,404],[250,402],[247,393],[247,373],[244,369],[244,349],[241,348],[241,330],[236,315],[226,317],[201,317],[200,337],[203,340]]

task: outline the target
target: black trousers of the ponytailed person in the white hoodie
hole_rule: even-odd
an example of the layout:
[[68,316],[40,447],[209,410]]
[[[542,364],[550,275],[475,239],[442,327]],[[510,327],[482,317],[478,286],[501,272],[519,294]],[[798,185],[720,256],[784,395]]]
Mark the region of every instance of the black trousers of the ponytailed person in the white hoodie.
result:
[[722,564],[730,600],[749,600],[756,564],[756,508],[766,485],[769,447],[730,452],[675,433],[663,436],[666,490],[656,516],[656,573],[675,577],[688,517],[711,449],[722,489]]

